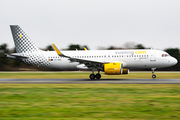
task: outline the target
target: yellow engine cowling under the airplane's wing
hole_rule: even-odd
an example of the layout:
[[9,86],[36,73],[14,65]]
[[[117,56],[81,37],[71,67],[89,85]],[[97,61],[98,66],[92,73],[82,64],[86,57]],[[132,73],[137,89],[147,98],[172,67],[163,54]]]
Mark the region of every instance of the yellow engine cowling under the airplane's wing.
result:
[[129,74],[129,69],[123,69],[121,63],[104,64],[104,72],[107,75]]

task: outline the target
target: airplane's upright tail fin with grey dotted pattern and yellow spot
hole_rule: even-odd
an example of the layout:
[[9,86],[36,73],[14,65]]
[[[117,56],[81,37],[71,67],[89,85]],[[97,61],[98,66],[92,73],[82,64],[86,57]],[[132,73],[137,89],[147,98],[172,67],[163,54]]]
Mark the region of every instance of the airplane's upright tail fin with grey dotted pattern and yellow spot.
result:
[[39,48],[36,47],[36,45],[18,25],[10,25],[10,28],[17,53],[39,51]]

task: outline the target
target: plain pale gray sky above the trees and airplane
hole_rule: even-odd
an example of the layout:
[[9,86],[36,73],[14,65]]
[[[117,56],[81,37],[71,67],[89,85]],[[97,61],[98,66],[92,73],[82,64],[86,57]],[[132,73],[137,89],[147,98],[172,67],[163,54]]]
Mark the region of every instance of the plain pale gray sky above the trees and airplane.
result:
[[0,44],[14,47],[19,25],[40,48],[55,43],[180,48],[180,0],[1,0]]

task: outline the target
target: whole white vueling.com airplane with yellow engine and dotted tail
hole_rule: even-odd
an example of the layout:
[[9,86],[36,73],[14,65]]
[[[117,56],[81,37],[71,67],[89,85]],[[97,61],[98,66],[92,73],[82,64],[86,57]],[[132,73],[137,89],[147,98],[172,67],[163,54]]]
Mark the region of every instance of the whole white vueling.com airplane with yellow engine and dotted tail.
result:
[[[152,78],[156,68],[165,68],[177,64],[177,59],[167,52],[154,49],[133,50],[40,50],[27,34],[18,26],[10,25],[16,52],[8,58],[42,67],[58,70],[91,70],[90,79],[100,79],[100,71],[107,75],[129,74],[129,69],[151,69]],[[97,74],[94,72],[97,71]]]

